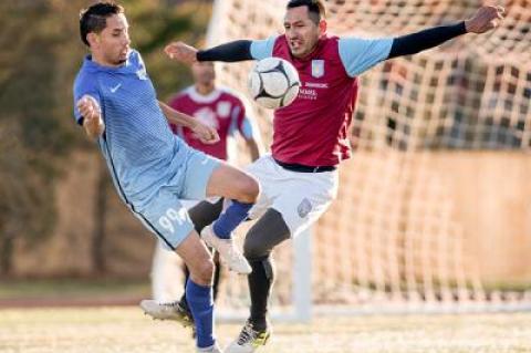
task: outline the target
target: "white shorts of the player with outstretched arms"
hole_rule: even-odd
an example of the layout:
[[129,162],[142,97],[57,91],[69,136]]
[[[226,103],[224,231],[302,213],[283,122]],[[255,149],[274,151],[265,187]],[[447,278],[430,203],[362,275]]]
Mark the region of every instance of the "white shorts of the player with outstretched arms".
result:
[[261,187],[249,217],[258,219],[273,208],[282,215],[292,237],[317,220],[337,196],[337,170],[287,170],[271,155],[266,155],[249,165],[246,172],[256,177]]

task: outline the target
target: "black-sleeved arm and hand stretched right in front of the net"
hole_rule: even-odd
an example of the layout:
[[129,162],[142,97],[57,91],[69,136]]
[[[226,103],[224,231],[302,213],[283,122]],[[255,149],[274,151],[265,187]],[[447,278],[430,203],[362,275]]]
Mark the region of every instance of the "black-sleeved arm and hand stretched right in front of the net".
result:
[[457,24],[440,25],[395,38],[387,59],[416,54],[465,33],[485,33],[500,25],[503,12],[502,7],[485,6],[472,18]]

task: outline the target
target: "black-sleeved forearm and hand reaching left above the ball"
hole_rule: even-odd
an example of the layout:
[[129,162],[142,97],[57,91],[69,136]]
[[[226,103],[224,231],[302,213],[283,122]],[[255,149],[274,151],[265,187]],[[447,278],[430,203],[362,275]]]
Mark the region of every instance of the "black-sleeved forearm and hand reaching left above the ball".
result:
[[197,61],[237,62],[252,60],[251,41],[239,40],[228,42],[207,50],[197,50],[183,42],[173,42],[164,49],[166,54],[185,64],[191,65]]

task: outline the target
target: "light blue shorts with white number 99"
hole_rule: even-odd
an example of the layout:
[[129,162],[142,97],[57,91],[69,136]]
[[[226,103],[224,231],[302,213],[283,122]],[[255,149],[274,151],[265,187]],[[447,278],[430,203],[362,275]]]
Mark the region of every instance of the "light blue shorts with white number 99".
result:
[[202,200],[219,159],[189,148],[186,160],[167,186],[158,189],[152,199],[134,214],[153,231],[167,249],[175,250],[194,230],[183,200]]

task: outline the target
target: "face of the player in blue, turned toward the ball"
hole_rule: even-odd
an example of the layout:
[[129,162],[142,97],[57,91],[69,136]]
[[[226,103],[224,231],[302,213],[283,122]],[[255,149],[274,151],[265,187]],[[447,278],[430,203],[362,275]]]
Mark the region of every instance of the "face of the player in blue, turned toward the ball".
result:
[[113,14],[106,23],[101,33],[91,33],[94,34],[91,49],[104,64],[119,66],[127,60],[129,51],[129,25],[123,13]]

